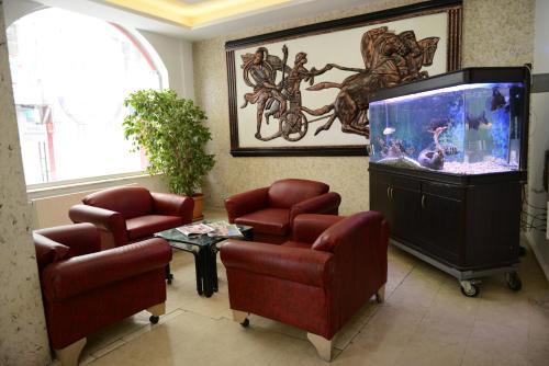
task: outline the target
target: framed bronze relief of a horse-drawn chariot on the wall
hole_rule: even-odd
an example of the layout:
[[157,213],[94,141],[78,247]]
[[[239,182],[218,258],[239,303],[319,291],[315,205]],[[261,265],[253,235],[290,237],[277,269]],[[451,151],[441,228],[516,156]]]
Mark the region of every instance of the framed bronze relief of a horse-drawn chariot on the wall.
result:
[[231,153],[365,156],[373,90],[456,70],[461,1],[429,1],[225,44]]

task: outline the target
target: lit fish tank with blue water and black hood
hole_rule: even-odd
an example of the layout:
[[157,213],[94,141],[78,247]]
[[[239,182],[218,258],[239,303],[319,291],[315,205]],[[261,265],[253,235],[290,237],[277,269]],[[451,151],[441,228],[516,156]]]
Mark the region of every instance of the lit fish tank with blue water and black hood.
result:
[[529,70],[467,68],[373,92],[370,161],[451,174],[526,169]]

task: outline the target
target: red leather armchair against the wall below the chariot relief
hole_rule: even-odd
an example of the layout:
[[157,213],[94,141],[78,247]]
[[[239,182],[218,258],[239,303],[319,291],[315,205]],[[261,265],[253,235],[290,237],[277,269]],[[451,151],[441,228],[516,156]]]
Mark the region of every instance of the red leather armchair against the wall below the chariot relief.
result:
[[291,238],[300,214],[337,215],[341,197],[325,183],[285,179],[225,199],[228,221],[254,228],[254,239],[280,244]]

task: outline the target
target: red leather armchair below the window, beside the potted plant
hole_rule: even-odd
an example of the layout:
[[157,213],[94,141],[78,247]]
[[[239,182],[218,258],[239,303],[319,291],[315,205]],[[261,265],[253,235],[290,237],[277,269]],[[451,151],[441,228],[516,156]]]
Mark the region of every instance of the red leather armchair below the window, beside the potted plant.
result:
[[102,248],[125,245],[155,232],[192,221],[194,201],[138,186],[120,186],[87,195],[69,210],[72,222],[91,222],[101,232]]

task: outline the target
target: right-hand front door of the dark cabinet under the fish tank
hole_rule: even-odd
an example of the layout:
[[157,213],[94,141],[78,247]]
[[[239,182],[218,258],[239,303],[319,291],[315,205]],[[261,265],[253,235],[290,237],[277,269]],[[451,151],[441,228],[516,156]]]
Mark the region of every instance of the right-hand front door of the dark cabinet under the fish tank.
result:
[[[430,184],[430,188],[435,185]],[[433,254],[450,264],[458,264],[460,243],[463,235],[462,201],[460,190],[453,190],[450,196],[429,193],[424,186],[422,193],[422,241]],[[433,190],[432,190],[433,191]]]

